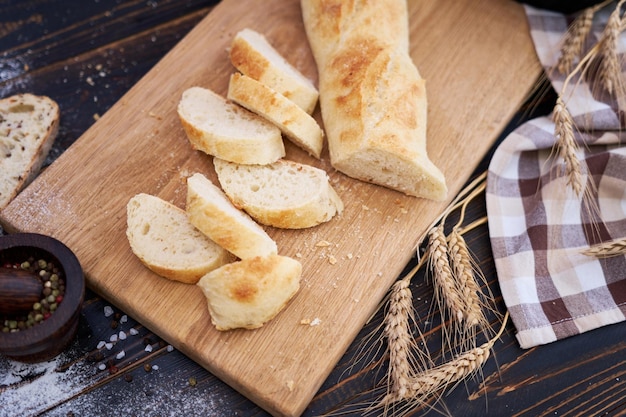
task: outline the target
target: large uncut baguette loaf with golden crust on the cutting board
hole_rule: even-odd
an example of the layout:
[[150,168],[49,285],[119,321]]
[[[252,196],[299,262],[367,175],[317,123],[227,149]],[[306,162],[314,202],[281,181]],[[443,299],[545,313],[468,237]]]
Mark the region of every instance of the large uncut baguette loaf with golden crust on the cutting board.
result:
[[406,0],[301,0],[331,164],[344,174],[441,201],[426,151],[425,81],[409,55]]

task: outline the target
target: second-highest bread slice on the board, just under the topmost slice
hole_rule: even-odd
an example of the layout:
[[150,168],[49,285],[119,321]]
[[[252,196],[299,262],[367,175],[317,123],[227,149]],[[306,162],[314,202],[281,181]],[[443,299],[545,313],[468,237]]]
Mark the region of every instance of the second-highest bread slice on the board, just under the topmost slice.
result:
[[324,144],[322,128],[293,101],[238,72],[230,77],[228,99],[272,122],[294,144],[319,159]]

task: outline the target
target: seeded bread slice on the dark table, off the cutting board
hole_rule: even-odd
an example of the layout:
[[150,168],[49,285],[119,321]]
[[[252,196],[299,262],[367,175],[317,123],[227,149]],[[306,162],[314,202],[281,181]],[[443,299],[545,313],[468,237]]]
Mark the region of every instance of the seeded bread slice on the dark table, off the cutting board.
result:
[[0,210],[37,176],[59,131],[61,112],[46,96],[0,100]]

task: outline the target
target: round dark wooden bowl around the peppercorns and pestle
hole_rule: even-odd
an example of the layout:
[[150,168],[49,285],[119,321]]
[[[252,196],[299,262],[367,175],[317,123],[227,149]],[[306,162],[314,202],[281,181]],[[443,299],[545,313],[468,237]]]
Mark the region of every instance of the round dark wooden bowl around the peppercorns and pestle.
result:
[[0,265],[23,262],[30,256],[57,265],[65,277],[65,294],[46,320],[18,332],[0,332],[0,354],[20,362],[42,362],[61,353],[73,340],[85,297],[80,262],[62,242],[36,233],[0,236]]

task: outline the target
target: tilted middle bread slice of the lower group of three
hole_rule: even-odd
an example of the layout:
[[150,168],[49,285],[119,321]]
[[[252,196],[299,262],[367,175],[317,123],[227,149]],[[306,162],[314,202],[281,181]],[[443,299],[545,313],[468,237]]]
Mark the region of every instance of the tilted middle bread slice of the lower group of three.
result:
[[235,256],[276,254],[276,242],[200,173],[187,178],[187,216],[198,230]]

